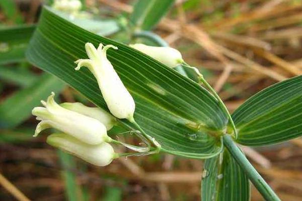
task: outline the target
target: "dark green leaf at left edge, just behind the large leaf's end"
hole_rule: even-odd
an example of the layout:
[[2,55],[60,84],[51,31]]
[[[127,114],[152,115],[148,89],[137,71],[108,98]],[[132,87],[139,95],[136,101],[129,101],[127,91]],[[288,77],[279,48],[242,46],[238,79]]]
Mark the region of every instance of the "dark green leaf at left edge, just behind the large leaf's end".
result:
[[24,60],[25,50],[34,30],[34,25],[0,29],[0,64]]

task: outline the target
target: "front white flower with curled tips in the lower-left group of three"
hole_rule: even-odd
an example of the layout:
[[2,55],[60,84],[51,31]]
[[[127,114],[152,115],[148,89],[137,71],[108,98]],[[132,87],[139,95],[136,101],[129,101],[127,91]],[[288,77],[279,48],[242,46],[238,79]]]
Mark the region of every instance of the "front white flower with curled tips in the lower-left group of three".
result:
[[55,128],[87,144],[100,144],[110,141],[106,127],[96,119],[62,108],[55,103],[54,93],[48,96],[45,106],[36,107],[32,114],[41,122],[37,125],[35,137],[44,129]]

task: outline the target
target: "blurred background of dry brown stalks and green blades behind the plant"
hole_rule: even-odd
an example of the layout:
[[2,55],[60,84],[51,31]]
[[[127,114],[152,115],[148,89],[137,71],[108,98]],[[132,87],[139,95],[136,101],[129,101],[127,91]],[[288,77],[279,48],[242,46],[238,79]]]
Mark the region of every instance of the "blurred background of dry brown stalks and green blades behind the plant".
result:
[[[136,1],[82,2],[85,15],[106,26],[106,34],[99,27],[102,35],[129,42]],[[92,106],[24,58],[42,5],[52,3],[0,0],[0,29],[28,28],[0,33],[0,200],[200,200],[201,160],[161,153],[99,168],[47,145],[47,132],[32,137],[37,121],[31,109],[51,90],[59,102]],[[204,74],[231,112],[261,89],[302,73],[299,0],[175,1],[154,31]],[[282,200],[302,200],[301,139],[243,150]],[[252,200],[263,200],[254,187]]]

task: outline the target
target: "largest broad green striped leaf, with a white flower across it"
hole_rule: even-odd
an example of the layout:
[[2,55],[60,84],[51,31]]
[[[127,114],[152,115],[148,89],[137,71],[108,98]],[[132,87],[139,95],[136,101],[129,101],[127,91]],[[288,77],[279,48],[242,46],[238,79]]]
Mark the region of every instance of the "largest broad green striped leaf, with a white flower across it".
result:
[[[221,151],[221,143],[207,134],[225,129],[228,118],[208,91],[139,51],[71,24],[47,7],[27,58],[108,110],[92,73],[87,68],[74,70],[75,60],[87,58],[86,42],[118,47],[107,51],[108,59],[135,100],[136,122],[156,138],[163,151],[192,158],[207,158]],[[203,131],[192,129],[197,125]]]

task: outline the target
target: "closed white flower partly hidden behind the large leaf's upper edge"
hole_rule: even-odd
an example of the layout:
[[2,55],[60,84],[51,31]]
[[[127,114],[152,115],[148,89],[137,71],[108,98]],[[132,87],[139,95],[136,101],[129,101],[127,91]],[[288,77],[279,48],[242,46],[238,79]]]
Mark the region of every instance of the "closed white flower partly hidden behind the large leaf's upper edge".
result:
[[155,47],[144,44],[130,44],[129,46],[158,60],[170,68],[183,62],[181,53],[172,47]]

